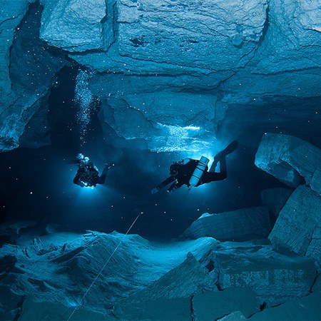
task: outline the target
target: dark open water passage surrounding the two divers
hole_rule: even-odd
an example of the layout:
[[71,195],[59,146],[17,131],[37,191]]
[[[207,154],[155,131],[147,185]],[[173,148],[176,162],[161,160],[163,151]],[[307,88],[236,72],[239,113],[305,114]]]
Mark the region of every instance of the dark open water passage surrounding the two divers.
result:
[[[151,188],[168,176],[169,165],[188,155],[142,151],[135,148],[135,142],[128,143],[130,148],[113,146],[114,134],[111,130],[111,141],[106,141],[98,110],[91,115],[86,143],[82,145],[74,103],[77,73],[78,68],[63,68],[51,88],[51,146],[18,148],[0,156],[4,168],[9,169],[4,175],[6,189],[1,206],[5,220],[28,218],[39,224],[57,223],[63,230],[125,233],[136,215],[144,213],[132,233],[173,238],[201,213],[261,205],[261,190],[282,186],[254,165],[255,148],[248,147],[246,139],[251,137],[257,143],[260,133],[251,135],[246,126],[241,128],[244,123],[232,126],[227,121],[226,135],[240,140],[238,150],[228,157],[227,180],[190,191],[183,187],[173,195],[165,190],[151,195]],[[105,185],[87,190],[72,183],[76,153],[89,156],[100,171],[106,161],[115,163]]]

